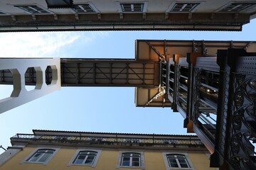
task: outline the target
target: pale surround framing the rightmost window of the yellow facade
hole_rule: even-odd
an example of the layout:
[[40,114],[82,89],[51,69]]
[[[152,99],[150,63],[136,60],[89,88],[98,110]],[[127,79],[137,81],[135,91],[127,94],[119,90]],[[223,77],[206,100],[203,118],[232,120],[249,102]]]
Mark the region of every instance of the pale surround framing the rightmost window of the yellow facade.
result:
[[[185,156],[186,162],[188,163],[188,166],[190,166],[189,168],[181,168],[181,167],[171,167],[169,165],[169,161],[167,159],[167,155],[168,154],[173,154],[173,155],[183,155]],[[195,168],[193,167],[193,164],[191,162],[191,159],[189,159],[188,154],[187,153],[183,153],[183,152],[163,152],[163,158],[164,158],[164,164],[166,165],[166,170],[195,170]],[[178,162],[178,161],[176,161]],[[179,163],[179,162],[178,162]],[[179,164],[178,164],[179,165]]]

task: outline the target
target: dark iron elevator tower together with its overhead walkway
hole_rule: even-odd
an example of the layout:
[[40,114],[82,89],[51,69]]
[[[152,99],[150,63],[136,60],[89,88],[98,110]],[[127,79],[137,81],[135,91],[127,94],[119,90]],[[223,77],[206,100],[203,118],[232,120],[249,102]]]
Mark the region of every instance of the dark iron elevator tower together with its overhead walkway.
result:
[[[137,40],[134,60],[61,58],[59,74],[61,86],[134,86],[136,106],[181,113],[212,154],[210,166],[255,169],[255,49],[246,41]],[[33,68],[24,79],[37,86]],[[1,84],[13,84],[12,73],[1,69]],[[53,74],[48,67],[46,84]]]

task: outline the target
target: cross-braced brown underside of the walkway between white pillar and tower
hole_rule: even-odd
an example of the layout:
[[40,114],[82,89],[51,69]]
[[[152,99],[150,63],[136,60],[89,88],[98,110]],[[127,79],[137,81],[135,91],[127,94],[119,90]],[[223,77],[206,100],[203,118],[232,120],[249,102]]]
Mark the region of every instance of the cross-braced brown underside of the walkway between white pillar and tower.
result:
[[156,64],[154,61],[63,58],[61,85],[154,87],[154,77],[159,72]]

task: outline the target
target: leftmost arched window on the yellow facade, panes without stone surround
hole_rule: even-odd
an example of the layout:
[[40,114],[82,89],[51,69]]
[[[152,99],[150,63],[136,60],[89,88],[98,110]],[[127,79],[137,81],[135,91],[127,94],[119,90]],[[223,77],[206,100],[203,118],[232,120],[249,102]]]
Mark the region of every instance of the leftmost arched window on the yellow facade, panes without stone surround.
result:
[[26,159],[26,162],[46,163],[53,157],[55,149],[38,149],[31,157]]

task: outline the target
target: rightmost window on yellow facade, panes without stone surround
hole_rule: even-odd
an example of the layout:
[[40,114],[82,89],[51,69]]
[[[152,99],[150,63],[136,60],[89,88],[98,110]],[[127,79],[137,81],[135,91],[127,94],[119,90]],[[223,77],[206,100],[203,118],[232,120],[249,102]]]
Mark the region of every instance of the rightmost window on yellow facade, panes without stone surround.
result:
[[166,158],[171,168],[190,169],[186,156],[183,154],[166,154]]

